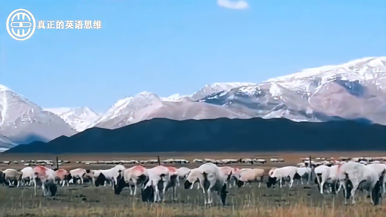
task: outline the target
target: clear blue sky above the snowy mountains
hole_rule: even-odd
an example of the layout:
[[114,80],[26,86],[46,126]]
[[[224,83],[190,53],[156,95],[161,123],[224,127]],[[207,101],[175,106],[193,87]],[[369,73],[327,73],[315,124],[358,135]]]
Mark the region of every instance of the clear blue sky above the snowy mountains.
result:
[[[104,112],[145,90],[191,94],[207,83],[258,83],[385,55],[384,0],[246,3],[231,9],[224,0],[1,1],[0,83],[42,107]],[[36,29],[16,41],[5,21],[18,8],[36,20],[101,20],[102,29]]]

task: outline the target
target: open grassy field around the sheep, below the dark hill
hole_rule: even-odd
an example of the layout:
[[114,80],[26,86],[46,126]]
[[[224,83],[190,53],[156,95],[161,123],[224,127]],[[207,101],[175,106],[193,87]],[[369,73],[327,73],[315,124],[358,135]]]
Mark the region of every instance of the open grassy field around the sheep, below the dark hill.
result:
[[[299,163],[299,158],[312,157],[366,157],[382,156],[379,152],[281,152],[281,153],[157,153],[161,159],[184,158],[284,158],[283,163],[267,164],[230,164],[230,166],[258,167],[269,169],[272,166],[287,166]],[[156,159],[156,153],[108,153],[108,154],[60,154],[59,159],[69,160],[71,164],[64,164],[61,168],[111,168],[106,164],[75,164],[75,161],[87,160],[129,160]],[[14,161],[27,159],[54,160],[56,155],[47,154],[0,154],[0,161]],[[5,165],[5,168],[23,168],[22,164]],[[176,164],[176,167],[198,167],[200,164]],[[127,165],[129,167],[131,165]],[[148,165],[149,167],[154,165]],[[313,175],[313,177],[315,177]],[[342,192],[336,197],[321,195],[313,181],[309,185],[293,186],[290,190],[284,188],[267,188],[257,184],[241,188],[228,189],[226,206],[220,205],[215,199],[211,208],[204,207],[201,190],[193,188],[185,190],[179,186],[177,202],[171,202],[170,192],[166,202],[145,204],[139,195],[130,196],[129,189],[124,188],[120,195],[115,195],[112,186],[70,185],[58,187],[55,197],[33,196],[32,187],[9,188],[0,186],[0,216],[272,216],[272,217],[314,217],[314,216],[384,216],[386,202],[372,206],[367,193],[357,193],[356,205],[344,205]],[[217,198],[217,197],[216,197]],[[350,201],[351,202],[351,201]],[[383,214],[382,214],[383,213]]]

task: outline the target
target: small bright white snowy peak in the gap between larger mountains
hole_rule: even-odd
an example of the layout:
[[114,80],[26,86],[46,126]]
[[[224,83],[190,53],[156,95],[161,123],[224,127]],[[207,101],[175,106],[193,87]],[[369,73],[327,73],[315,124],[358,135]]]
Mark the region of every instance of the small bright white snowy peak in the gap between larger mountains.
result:
[[82,132],[89,127],[93,127],[100,116],[88,107],[77,108],[44,108],[63,119],[73,129]]

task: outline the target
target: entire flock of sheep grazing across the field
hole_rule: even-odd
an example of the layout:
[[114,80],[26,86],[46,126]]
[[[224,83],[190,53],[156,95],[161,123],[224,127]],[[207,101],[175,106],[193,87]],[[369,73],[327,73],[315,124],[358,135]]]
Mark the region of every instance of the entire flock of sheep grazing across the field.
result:
[[[259,161],[262,160],[262,161]],[[283,159],[270,159],[272,162]],[[172,190],[173,200],[176,200],[176,186],[180,181],[184,182],[185,189],[192,189],[197,183],[198,189],[204,194],[205,205],[213,203],[212,192],[216,192],[220,202],[225,204],[227,197],[227,188],[232,186],[242,187],[248,183],[263,183],[264,176],[267,176],[266,186],[270,188],[276,183],[279,187],[286,186],[289,188],[297,180],[297,183],[303,185],[303,180],[309,184],[314,171],[315,183],[320,189],[320,193],[336,194],[341,189],[345,196],[345,203],[352,197],[352,203],[355,203],[355,193],[357,190],[367,190],[372,204],[378,205],[379,198],[385,194],[386,183],[386,158],[340,158],[330,161],[322,158],[315,158],[310,161],[308,158],[301,158],[303,163],[297,166],[284,166],[281,168],[271,168],[265,171],[259,168],[237,168],[230,166],[218,166],[218,164],[230,163],[266,163],[264,159],[195,159],[193,162],[201,163],[198,168],[189,169],[186,167],[175,168],[173,166],[158,165],[152,168],[145,168],[141,163],[145,161],[135,161],[130,168],[125,168],[126,162],[122,161],[81,161],[77,163],[102,163],[117,164],[108,170],[86,170],[77,168],[66,171],[64,169],[52,170],[43,165],[28,166],[18,171],[15,169],[6,169],[0,171],[0,184],[19,187],[20,185],[34,186],[36,189],[41,188],[43,195],[54,196],[57,191],[57,185],[64,187],[83,184],[87,179],[96,187],[103,185],[112,185],[115,194],[119,195],[123,188],[130,189],[130,195],[137,193],[137,187],[141,189],[141,197],[144,202],[160,202],[165,200],[165,194],[169,189]],[[320,161],[323,160],[323,161]],[[316,162],[318,161],[318,162]],[[319,162],[320,161],[320,162]],[[34,161],[38,163],[38,161]],[[52,161],[51,161],[52,162]],[[107,163],[108,162],[108,163]],[[127,161],[127,164],[133,161]],[[150,161],[148,161],[150,162]],[[168,159],[161,161],[163,164],[168,163],[189,163],[185,159]],[[327,163],[328,162],[328,163]],[[26,162],[33,163],[33,161]],[[49,165],[49,162],[42,162]],[[61,163],[66,163],[61,161]],[[153,163],[158,163],[154,161]],[[311,165],[310,165],[311,163]],[[170,192],[170,190],[169,190]]]

